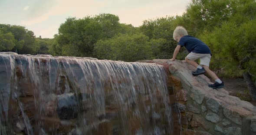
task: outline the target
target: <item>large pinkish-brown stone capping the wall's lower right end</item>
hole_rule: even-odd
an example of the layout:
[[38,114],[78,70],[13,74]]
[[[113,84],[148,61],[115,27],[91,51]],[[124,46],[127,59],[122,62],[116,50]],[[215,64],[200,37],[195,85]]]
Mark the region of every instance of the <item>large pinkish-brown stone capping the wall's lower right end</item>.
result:
[[242,125],[243,116],[253,116],[253,113],[240,106],[223,107],[223,114],[238,125]]

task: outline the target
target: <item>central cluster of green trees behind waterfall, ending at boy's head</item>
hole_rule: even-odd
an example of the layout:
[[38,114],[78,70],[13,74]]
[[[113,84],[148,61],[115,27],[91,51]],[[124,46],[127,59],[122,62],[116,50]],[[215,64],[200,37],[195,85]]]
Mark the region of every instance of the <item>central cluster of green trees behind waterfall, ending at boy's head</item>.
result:
[[137,61],[171,58],[174,17],[145,20],[134,27],[119,23],[112,14],[68,18],[59,27],[52,45],[53,55],[94,57],[98,59]]

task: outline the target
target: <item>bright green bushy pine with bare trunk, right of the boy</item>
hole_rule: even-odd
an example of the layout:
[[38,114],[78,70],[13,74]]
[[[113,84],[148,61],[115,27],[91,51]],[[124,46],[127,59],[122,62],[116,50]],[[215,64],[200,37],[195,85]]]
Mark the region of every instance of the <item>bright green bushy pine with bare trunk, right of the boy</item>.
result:
[[[213,50],[215,68],[224,68],[225,76],[243,75],[250,95],[256,100],[256,19],[237,26],[224,23],[213,32],[205,32],[201,38]],[[220,62],[223,61],[223,62]]]

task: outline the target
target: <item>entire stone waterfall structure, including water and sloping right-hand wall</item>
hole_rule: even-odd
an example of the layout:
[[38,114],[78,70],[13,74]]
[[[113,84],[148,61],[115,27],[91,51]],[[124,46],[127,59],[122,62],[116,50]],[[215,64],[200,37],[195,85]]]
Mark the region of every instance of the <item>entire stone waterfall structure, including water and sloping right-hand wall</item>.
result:
[[1,134],[256,134],[256,107],[195,67],[140,62],[0,53]]

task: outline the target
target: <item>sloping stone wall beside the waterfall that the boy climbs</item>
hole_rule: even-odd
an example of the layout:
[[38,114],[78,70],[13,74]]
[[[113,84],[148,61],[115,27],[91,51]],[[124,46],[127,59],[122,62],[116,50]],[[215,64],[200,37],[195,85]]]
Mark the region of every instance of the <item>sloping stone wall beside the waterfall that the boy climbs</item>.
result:
[[[170,72],[181,112],[182,135],[256,135],[256,106],[230,96],[225,89],[212,89],[205,75],[182,61],[155,59]],[[224,82],[225,83],[225,82]]]

